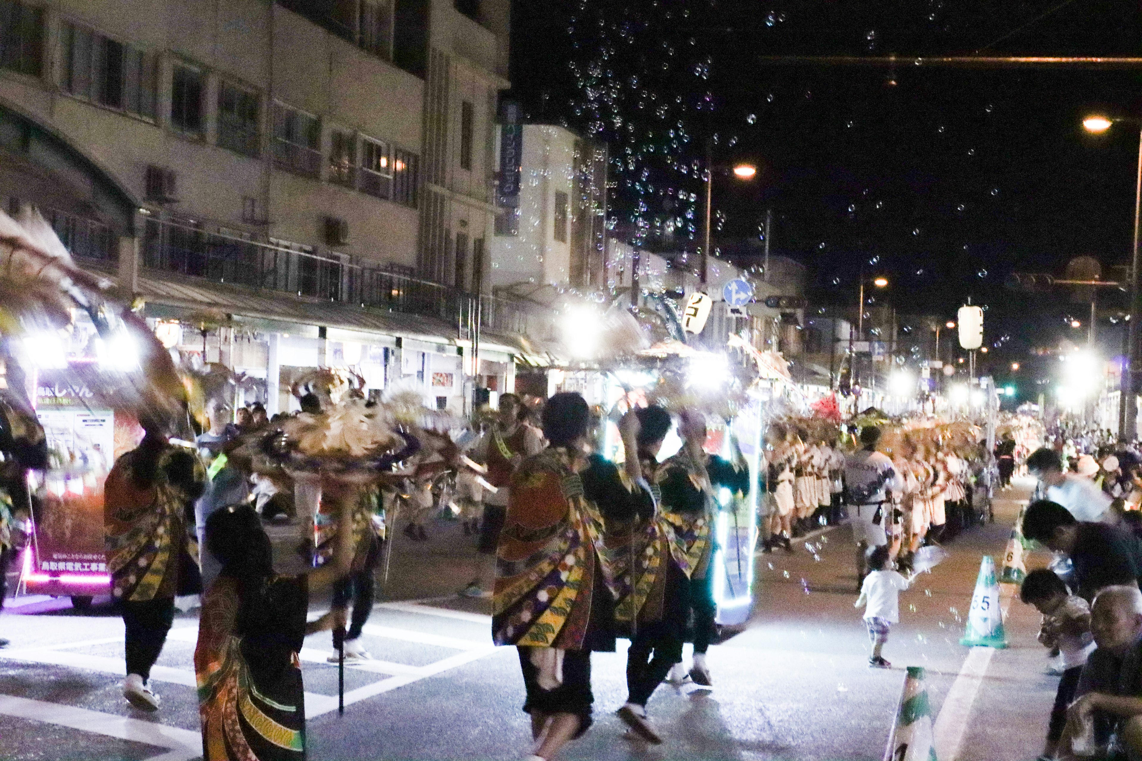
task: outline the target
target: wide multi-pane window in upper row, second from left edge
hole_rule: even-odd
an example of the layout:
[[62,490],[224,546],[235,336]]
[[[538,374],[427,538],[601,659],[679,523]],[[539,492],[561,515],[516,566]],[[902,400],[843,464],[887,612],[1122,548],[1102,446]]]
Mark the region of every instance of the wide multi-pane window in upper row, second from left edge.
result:
[[155,57],[73,24],[63,24],[64,91],[154,120]]

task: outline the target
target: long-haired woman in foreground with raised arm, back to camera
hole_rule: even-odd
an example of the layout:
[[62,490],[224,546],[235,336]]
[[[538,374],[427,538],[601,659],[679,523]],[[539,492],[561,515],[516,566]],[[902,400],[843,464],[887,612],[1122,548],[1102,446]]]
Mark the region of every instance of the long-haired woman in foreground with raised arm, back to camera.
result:
[[194,649],[203,761],[305,759],[305,696],[298,651],[307,634],[345,625],[333,608],[307,622],[312,590],[349,572],[352,492],[328,480],[327,500],[340,502],[330,562],[298,576],[274,573],[273,549],[250,504],[207,520],[207,550],[222,573],[202,601]]

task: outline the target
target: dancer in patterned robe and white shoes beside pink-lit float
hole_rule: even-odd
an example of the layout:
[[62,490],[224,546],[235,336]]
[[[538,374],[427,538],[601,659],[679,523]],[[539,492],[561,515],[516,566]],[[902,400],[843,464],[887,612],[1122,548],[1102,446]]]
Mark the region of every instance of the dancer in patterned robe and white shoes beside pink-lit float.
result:
[[147,686],[175,618],[180,567],[194,562],[194,501],[206,470],[193,451],[171,446],[166,424],[144,420],[138,448],[119,459],[104,486],[104,535],[111,591],[126,629],[123,697],[159,707]]

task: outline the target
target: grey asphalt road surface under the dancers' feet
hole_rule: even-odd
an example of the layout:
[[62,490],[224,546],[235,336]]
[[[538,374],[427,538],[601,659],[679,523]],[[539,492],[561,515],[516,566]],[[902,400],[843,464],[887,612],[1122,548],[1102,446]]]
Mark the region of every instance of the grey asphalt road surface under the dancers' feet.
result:
[[[1045,674],[1045,650],[1035,641],[1038,615],[1016,596],[1007,600],[1007,649],[958,643],[980,559],[1002,562],[1029,486],[1005,493],[995,524],[950,543],[950,556],[901,594],[901,622],[884,650],[891,670],[867,665],[850,529],[826,529],[802,540],[795,554],[756,557],[750,621],[710,648],[714,690],[664,686],[648,706],[664,745],[630,739],[614,717],[626,698],[621,642],[618,653],[594,656],[595,724],[562,758],[876,761],[904,666],[919,665],[940,761],[1034,759],[1057,683]],[[273,529],[283,558],[291,531]],[[528,753],[515,651],[491,645],[488,600],[455,596],[476,562],[457,524],[439,523],[428,542],[399,541],[363,638],[373,659],[346,670],[344,717],[336,665],[325,662],[330,635],[306,640],[311,759],[483,761]],[[315,600],[312,613],[322,607]],[[0,635],[13,640],[0,650],[0,759],[199,758],[196,632],[195,613],[177,617],[152,674],[162,707],[148,714],[120,694],[123,628],[108,606],[97,600],[80,612],[66,600],[8,600],[0,616]]]

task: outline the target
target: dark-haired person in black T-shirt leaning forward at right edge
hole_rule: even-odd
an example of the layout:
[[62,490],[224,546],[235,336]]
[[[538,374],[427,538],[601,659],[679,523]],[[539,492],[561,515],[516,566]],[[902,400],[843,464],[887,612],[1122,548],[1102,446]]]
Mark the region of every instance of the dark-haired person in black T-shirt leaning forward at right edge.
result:
[[1049,500],[1032,503],[1023,515],[1023,536],[1073,565],[1075,590],[1093,600],[1112,584],[1137,584],[1142,574],[1142,542],[1119,526],[1079,521],[1063,505]]

